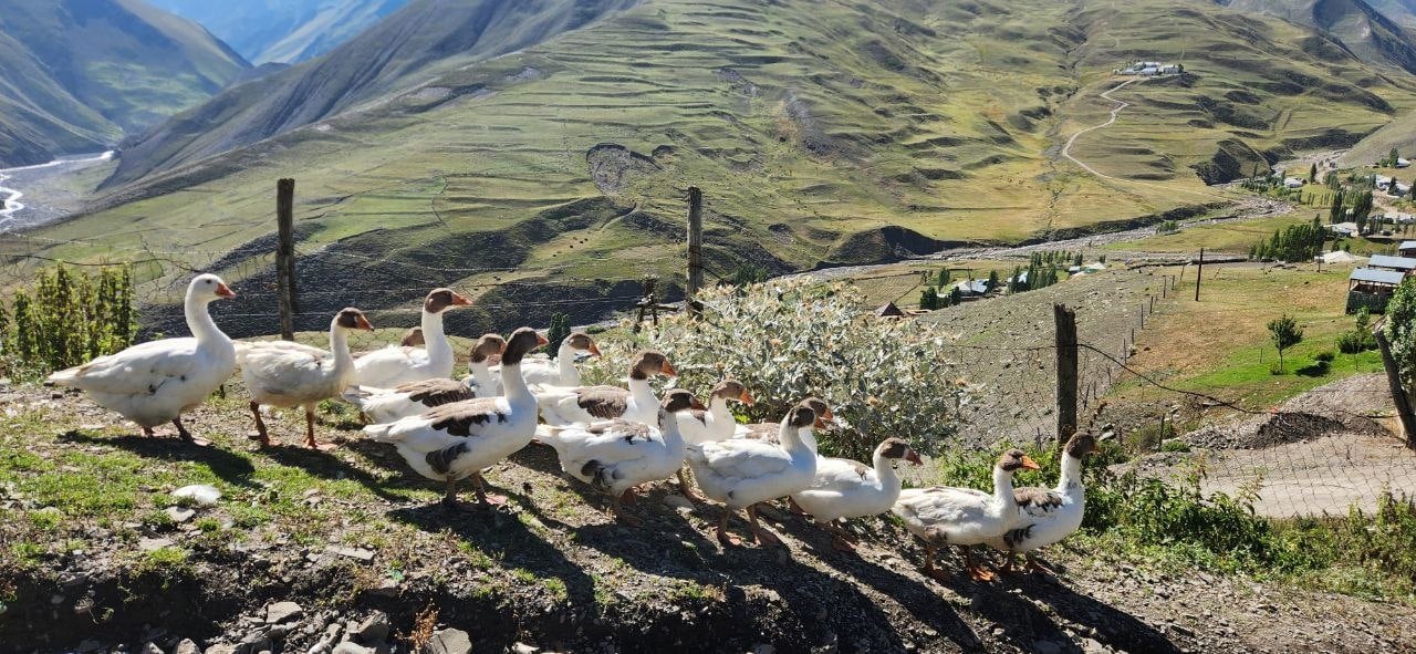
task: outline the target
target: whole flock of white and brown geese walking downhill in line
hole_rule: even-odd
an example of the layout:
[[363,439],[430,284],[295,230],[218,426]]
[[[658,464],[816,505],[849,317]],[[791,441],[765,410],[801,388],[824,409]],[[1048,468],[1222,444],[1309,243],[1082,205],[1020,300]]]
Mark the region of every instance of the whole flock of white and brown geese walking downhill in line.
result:
[[[830,534],[833,545],[852,549],[852,537],[840,527],[847,518],[893,511],[925,544],[925,568],[932,576],[939,546],[963,548],[964,563],[978,580],[993,572],[974,561],[974,545],[1007,553],[1024,552],[1029,566],[1045,570],[1032,551],[1058,542],[1080,527],[1085,504],[1082,457],[1095,446],[1086,433],[1065,446],[1055,488],[1014,488],[1014,473],[1037,470],[1021,450],[1004,453],[993,470],[993,491],[974,488],[905,488],[895,466],[920,463],[899,439],[885,439],[869,466],[817,454],[816,429],[831,420],[831,409],[817,398],[792,408],[779,423],[739,425],[729,402],[753,403],[748,389],[724,379],[708,405],[685,389],[657,398],[656,375],[674,377],[660,352],[639,352],[629,367],[627,388],[585,386],[576,355],[598,355],[595,341],[573,333],[558,344],[555,360],[528,357],[548,345],[530,327],[510,338],[487,334],[477,340],[470,374],[453,379],[453,348],[443,331],[443,313],[470,302],[450,289],[428,294],[421,334],[404,344],[354,357],[348,334],[372,330],[358,309],[343,309],[330,323],[330,350],[289,341],[232,341],[207,311],[211,302],[235,297],[215,275],[198,275],[187,289],[184,310],[188,338],[164,338],[55,372],[50,381],[75,386],[98,405],[122,413],[153,435],[171,423],[193,443],[207,444],[183,426],[181,415],[200,406],[239,367],[251,394],[256,439],[270,444],[261,406],[303,408],[306,444],[327,449],[314,437],[314,408],[343,398],[368,420],[364,433],[392,444],[419,474],[446,484],[449,508],[484,508],[504,497],[486,491],[481,471],[532,442],[555,449],[561,469],[606,493],[616,517],[639,524],[622,503],[643,484],[677,477],[684,497],[698,491],[721,503],[716,535],[741,545],[728,532],[732,514],[745,510],[753,541],[780,541],[758,524],[762,503],[787,498],[793,511],[810,514]],[[690,484],[687,469],[695,484]],[[477,503],[457,500],[457,483],[470,480]]]

